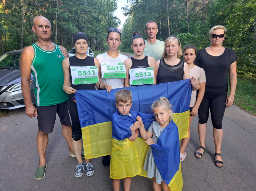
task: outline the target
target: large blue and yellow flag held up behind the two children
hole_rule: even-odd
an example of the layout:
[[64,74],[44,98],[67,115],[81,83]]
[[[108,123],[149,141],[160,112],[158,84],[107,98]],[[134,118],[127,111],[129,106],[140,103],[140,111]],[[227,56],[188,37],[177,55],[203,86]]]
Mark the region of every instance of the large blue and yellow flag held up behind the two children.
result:
[[[75,93],[86,159],[111,154],[111,116],[117,111],[115,93],[120,89],[123,88],[112,89],[110,93],[106,90],[77,90]],[[173,121],[178,127],[179,139],[188,137],[189,103],[192,91],[189,79],[156,85],[133,86],[125,89],[132,92],[131,111],[145,114],[153,114],[151,105],[160,97],[166,97],[173,105]],[[142,171],[139,175],[146,177],[147,172],[143,170],[143,166],[149,146],[140,137],[136,139],[135,144]],[[178,182],[182,183],[182,176],[179,171],[176,172],[175,177],[179,177]],[[181,189],[182,186],[177,188],[177,190]]]

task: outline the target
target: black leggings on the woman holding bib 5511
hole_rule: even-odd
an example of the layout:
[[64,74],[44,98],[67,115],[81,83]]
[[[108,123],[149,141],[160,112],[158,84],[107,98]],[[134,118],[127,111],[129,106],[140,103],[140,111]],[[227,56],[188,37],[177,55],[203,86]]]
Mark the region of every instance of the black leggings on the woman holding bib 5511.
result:
[[72,138],[75,141],[79,141],[82,138],[82,129],[80,126],[76,103],[71,98],[69,98],[68,101],[68,109],[71,117]]

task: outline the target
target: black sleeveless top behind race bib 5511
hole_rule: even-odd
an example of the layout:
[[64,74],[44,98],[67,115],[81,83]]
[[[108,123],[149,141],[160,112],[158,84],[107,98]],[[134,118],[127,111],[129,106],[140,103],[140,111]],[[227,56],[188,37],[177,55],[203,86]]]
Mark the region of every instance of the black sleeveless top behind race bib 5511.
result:
[[[69,77],[70,77],[70,84],[71,87],[78,90],[78,89],[95,89],[94,84],[79,84],[74,85],[72,84],[72,75],[70,66],[95,66],[94,64],[94,58],[87,56],[85,59],[79,59],[76,56],[69,57]],[[74,93],[69,94],[71,98],[75,96]]]

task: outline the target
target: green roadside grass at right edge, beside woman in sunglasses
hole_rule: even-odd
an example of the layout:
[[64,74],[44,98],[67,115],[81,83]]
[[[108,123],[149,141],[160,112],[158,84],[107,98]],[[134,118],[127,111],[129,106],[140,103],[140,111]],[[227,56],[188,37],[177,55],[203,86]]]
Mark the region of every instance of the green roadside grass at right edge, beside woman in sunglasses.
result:
[[256,79],[252,77],[238,76],[237,89],[234,97],[234,105],[256,115]]

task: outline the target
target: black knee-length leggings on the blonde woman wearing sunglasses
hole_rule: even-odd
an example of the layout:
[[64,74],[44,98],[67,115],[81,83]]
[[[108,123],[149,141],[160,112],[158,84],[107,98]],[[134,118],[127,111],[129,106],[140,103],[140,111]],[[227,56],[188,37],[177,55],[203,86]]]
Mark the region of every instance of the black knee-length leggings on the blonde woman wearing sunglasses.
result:
[[226,109],[227,95],[217,98],[211,98],[204,95],[198,109],[198,118],[201,124],[207,123],[209,118],[209,108],[212,117],[212,126],[216,129],[222,129],[222,120]]

